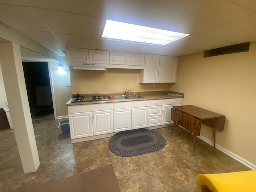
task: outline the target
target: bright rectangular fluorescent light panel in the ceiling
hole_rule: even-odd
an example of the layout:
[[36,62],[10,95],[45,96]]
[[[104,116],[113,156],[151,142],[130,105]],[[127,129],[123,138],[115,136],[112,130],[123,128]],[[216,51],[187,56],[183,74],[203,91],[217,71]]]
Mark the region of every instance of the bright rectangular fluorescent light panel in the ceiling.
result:
[[106,20],[103,38],[166,45],[189,34]]

